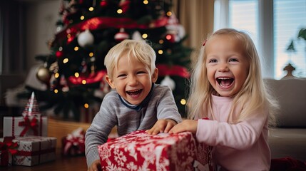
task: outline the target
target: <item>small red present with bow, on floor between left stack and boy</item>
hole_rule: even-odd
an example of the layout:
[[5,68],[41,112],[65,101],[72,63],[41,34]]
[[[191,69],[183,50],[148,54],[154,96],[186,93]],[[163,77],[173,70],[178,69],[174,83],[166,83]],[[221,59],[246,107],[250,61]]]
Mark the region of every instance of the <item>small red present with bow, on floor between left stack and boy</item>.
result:
[[71,134],[62,138],[61,143],[63,155],[85,155],[85,133],[83,128],[73,130]]

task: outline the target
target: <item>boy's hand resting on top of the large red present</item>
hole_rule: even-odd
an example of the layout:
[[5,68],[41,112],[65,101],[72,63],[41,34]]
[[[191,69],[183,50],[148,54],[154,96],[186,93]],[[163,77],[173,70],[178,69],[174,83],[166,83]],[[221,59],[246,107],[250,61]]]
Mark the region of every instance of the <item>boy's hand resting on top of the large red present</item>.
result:
[[174,120],[158,120],[150,130],[146,130],[146,133],[156,135],[158,133],[168,133],[173,126],[176,125]]

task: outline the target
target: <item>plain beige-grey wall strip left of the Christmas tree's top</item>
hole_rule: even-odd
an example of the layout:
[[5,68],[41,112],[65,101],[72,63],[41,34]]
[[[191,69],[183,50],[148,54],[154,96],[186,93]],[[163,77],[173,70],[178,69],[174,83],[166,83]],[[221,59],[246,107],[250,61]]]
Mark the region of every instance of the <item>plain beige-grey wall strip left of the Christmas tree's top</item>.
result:
[[60,2],[60,0],[44,0],[27,3],[26,58],[29,68],[39,63],[35,59],[36,55],[50,53],[47,43],[56,33]]

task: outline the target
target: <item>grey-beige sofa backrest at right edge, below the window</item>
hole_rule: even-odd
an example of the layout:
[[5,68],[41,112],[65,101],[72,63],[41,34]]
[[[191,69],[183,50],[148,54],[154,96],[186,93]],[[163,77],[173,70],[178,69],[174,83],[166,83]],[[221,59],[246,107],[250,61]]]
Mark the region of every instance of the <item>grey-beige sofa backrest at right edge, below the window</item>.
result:
[[265,79],[278,100],[277,127],[306,128],[306,78]]

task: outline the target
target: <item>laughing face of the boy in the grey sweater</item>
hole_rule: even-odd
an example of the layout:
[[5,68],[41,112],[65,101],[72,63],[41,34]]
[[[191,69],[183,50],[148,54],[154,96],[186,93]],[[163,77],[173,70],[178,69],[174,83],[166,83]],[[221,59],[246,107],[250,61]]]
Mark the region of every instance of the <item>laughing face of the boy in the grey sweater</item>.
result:
[[111,88],[116,88],[118,94],[128,103],[138,105],[146,98],[157,77],[157,68],[151,73],[150,66],[146,66],[133,56],[128,60],[127,55],[124,55],[119,58],[118,66],[113,69],[113,78],[106,76],[106,81]]

